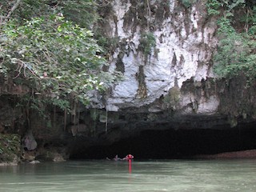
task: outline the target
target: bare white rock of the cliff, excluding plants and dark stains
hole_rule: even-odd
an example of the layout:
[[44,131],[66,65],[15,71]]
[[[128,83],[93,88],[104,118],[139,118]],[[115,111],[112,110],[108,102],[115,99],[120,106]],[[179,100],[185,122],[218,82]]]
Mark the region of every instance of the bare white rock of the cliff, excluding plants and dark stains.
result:
[[[182,88],[183,83],[188,79],[193,78],[194,82],[201,82],[202,79],[214,77],[210,59],[217,42],[214,38],[216,26],[212,21],[206,22],[203,1],[198,1],[186,11],[184,7],[181,8],[182,6],[178,5],[178,1],[170,0],[169,2],[170,15],[154,28],[156,46],[147,59],[145,55],[138,52],[142,27],[136,26],[132,32],[132,27],[125,29],[124,26],[126,14],[133,5],[130,1],[112,2],[114,17],[111,18],[116,18],[116,21],[109,19],[108,23],[112,31],[108,31],[108,34],[112,34],[112,37],[118,35],[120,42],[126,42],[126,50],[120,48],[115,50],[110,60],[110,70],[116,69],[118,54],[126,53],[122,57],[125,80],[113,88],[113,94],[106,101],[107,110],[118,111],[120,108],[129,106],[146,106],[168,94],[168,90],[175,85]],[[150,9],[158,8],[158,1],[150,1],[150,3]],[[157,22],[153,13],[150,16],[151,18],[145,17],[150,22]],[[133,26],[133,21],[130,22]],[[146,86],[144,97],[138,95],[139,86],[141,86],[138,81],[140,66],[144,74],[143,84]],[[179,103],[181,107],[190,102],[193,102],[193,99],[187,98],[187,95],[181,95]],[[197,111],[199,114],[213,114],[217,107],[218,98],[202,97]]]

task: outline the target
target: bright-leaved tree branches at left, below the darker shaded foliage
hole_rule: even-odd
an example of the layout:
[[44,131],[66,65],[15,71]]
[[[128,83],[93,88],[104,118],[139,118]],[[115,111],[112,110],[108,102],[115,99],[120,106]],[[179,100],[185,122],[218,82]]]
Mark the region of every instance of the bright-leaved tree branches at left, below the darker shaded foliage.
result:
[[[33,18],[22,26],[14,20],[2,26],[3,66],[10,78],[63,108],[73,98],[88,103],[89,90],[102,90],[98,78],[105,59],[90,30],[62,17]],[[16,69],[16,70],[15,70]],[[64,105],[65,103],[65,105]]]

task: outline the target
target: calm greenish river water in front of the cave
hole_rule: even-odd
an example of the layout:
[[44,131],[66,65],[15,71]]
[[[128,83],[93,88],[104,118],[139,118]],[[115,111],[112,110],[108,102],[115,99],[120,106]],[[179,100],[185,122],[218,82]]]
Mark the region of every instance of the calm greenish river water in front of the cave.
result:
[[256,191],[256,160],[86,160],[0,166],[0,191]]

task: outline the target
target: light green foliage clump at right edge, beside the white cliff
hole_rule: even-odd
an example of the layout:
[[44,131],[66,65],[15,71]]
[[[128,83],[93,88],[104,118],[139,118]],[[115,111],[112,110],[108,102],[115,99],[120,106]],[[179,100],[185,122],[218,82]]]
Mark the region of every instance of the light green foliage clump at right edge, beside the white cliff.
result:
[[214,72],[221,78],[232,78],[246,74],[254,78],[256,74],[256,43],[245,34],[238,34],[228,19],[222,18],[219,23],[218,51],[214,55]]

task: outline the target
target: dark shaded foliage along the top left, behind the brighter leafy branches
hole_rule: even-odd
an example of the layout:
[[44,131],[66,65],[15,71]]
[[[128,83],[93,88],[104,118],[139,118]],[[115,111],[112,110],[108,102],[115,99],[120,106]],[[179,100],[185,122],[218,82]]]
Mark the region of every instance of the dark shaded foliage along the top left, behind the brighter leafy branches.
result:
[[[16,0],[0,3],[0,16],[6,16]],[[22,0],[14,12],[14,18],[22,21],[49,14],[63,15],[67,20],[90,28],[98,20],[98,4],[94,0]],[[1,21],[1,20],[0,20]]]

